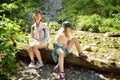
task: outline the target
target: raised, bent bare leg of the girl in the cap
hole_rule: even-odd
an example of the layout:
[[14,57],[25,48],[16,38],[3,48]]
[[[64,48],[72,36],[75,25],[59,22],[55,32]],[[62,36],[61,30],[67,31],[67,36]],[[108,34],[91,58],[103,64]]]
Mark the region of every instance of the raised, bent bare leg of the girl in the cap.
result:
[[81,52],[81,49],[80,49],[80,44],[79,44],[79,41],[76,37],[72,38],[71,40],[69,40],[68,42],[68,48],[71,49],[71,47],[75,44],[75,47],[77,48],[78,52],[80,53]]

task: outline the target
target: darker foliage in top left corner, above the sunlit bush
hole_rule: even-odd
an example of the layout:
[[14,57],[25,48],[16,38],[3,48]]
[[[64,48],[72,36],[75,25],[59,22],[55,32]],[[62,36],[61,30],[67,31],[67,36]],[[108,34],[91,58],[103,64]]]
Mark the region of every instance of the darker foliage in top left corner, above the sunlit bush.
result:
[[5,15],[10,20],[16,21],[21,26],[21,30],[27,32],[31,24],[26,21],[26,15],[28,15],[28,12],[33,11],[38,4],[41,5],[42,2],[33,0],[2,0],[0,2],[0,15]]

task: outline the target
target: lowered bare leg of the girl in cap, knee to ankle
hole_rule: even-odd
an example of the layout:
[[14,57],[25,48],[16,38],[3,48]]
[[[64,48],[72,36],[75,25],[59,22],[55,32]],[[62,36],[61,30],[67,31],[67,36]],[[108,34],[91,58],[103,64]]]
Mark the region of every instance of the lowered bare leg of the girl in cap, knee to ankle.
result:
[[57,50],[58,58],[58,65],[60,68],[60,72],[64,72],[64,52],[62,49]]

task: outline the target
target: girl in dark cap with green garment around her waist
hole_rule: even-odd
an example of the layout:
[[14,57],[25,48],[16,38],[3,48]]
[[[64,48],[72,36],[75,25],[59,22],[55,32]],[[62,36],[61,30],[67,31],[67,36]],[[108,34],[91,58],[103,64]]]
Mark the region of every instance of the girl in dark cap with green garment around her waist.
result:
[[87,59],[88,57],[81,52],[79,41],[76,37],[70,37],[72,25],[69,21],[64,21],[62,23],[62,27],[58,30],[54,49],[52,51],[52,57],[55,62],[58,61],[58,66],[60,69],[60,80],[65,80],[64,73],[64,57],[69,53],[69,50],[73,45],[78,50],[79,56]]

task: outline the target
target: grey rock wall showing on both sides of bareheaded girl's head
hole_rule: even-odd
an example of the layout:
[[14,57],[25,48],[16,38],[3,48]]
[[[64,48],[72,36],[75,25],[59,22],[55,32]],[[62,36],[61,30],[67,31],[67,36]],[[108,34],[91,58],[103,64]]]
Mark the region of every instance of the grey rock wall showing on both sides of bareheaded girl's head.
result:
[[[41,5],[42,3],[42,5]],[[57,16],[59,15],[62,9],[62,0],[44,0],[38,2],[38,7],[35,7],[34,10],[40,10],[43,14],[44,21],[50,22],[56,20]],[[26,21],[30,24],[33,24],[32,15],[34,10],[30,10],[26,13]]]

